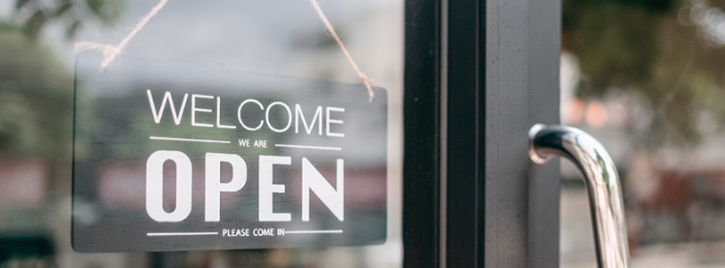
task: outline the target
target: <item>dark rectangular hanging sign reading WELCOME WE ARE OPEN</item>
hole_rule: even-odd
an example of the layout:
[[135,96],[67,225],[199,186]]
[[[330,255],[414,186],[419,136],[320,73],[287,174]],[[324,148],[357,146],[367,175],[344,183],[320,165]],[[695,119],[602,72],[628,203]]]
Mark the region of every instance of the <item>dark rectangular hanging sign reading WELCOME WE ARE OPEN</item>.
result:
[[386,239],[387,96],[362,85],[123,57],[76,60],[80,252]]

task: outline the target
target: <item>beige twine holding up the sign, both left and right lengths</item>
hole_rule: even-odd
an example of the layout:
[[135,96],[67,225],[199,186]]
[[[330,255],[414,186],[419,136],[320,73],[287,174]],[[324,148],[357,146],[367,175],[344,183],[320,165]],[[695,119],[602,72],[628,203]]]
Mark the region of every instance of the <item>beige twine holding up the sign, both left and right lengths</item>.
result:
[[[148,21],[153,18],[156,13],[161,11],[161,9],[164,7],[164,5],[168,2],[168,0],[161,0],[154,6],[154,8],[151,9],[148,14],[146,14],[139,23],[136,24],[136,27],[131,29],[131,32],[121,40],[121,43],[118,43],[116,46],[111,45],[102,45],[97,43],[90,43],[90,42],[77,42],[74,44],[74,49],[76,52],[85,51],[85,50],[97,50],[103,53],[104,59],[101,62],[101,70],[105,70],[106,67],[108,67],[109,64],[113,63],[115,58],[121,54],[123,51],[123,48],[129,45],[129,42],[131,42],[131,38],[136,36],[137,33],[148,23]],[[320,20],[322,20],[323,23],[325,23],[325,27],[328,31],[333,35],[333,38],[337,42],[337,45],[340,46],[342,53],[345,54],[345,57],[347,57],[348,61],[350,62],[350,65],[352,65],[352,69],[355,70],[355,73],[358,74],[358,83],[361,83],[365,85],[365,88],[367,88],[367,96],[369,97],[369,101],[373,101],[373,98],[375,97],[375,93],[373,92],[372,84],[373,80],[369,79],[367,75],[360,71],[358,68],[358,64],[355,63],[355,61],[352,59],[352,56],[350,56],[350,53],[348,52],[348,49],[345,48],[345,45],[342,44],[342,41],[340,37],[337,35],[335,30],[333,29],[333,25],[330,24],[330,21],[327,20],[327,16],[325,16],[325,13],[322,12],[322,9],[320,8],[320,5],[317,4],[316,0],[309,0],[309,3],[312,4],[312,7],[315,8],[315,11],[317,12],[317,15],[319,15]]]

